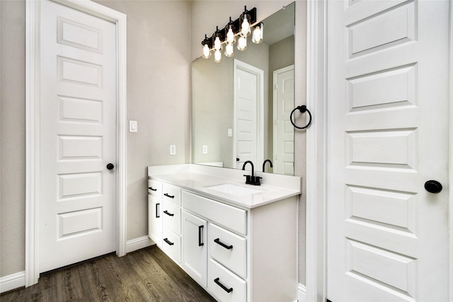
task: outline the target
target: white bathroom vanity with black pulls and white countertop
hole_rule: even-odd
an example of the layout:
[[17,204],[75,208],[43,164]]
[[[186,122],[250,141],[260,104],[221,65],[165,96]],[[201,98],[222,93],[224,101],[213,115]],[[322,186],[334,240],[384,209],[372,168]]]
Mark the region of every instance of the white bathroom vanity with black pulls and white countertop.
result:
[[[224,179],[191,173],[156,178],[162,186],[161,249],[217,301],[297,301],[299,178],[295,190],[263,185],[243,200],[206,191],[205,183]],[[156,233],[159,223],[149,236],[159,238]]]

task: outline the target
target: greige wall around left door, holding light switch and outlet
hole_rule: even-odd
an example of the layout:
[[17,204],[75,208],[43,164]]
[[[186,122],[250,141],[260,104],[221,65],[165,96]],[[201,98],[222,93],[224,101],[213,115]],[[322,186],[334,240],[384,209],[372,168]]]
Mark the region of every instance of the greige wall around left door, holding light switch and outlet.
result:
[[[127,14],[127,118],[139,130],[127,135],[130,240],[147,235],[147,166],[190,162],[190,2],[97,2]],[[25,1],[1,0],[0,11],[4,277],[25,269]]]

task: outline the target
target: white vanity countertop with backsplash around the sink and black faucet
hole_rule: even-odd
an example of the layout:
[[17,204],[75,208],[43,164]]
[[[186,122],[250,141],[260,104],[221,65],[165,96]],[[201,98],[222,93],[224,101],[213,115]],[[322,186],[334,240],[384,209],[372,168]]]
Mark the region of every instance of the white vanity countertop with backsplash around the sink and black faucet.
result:
[[[166,166],[149,167],[149,177],[245,209],[253,209],[286,199],[287,197],[297,196],[301,192],[300,178],[295,176],[255,173],[256,176],[263,178],[263,185],[246,185],[243,174],[250,175],[250,171],[217,167],[196,167],[196,165],[169,165],[168,169],[164,167]],[[222,169],[227,171],[223,171]],[[241,177],[238,178],[238,175],[241,175]],[[231,176],[234,176],[234,178],[231,178]],[[285,185],[280,186],[279,184],[281,182],[285,183]],[[238,196],[210,188],[215,185],[224,184],[239,185],[258,190],[259,192]]]

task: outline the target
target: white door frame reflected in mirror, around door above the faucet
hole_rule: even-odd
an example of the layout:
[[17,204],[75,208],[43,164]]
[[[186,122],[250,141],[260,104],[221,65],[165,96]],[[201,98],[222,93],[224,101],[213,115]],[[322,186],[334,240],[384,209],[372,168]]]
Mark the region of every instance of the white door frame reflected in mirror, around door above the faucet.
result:
[[[256,98],[256,160],[258,163],[263,163],[264,161],[264,71],[263,69],[259,69],[253,65],[247,64],[245,62],[240,61],[239,59],[234,59],[234,142],[233,142],[233,163],[236,167],[236,158],[237,158],[237,127],[236,119],[237,119],[237,102],[236,102],[236,91],[237,91],[237,83],[236,83],[236,70],[242,69],[243,71],[247,71],[250,74],[256,75],[257,78],[257,98]],[[263,148],[260,148],[262,146]],[[266,146],[267,148],[267,146]],[[257,165],[258,163],[254,163]]]

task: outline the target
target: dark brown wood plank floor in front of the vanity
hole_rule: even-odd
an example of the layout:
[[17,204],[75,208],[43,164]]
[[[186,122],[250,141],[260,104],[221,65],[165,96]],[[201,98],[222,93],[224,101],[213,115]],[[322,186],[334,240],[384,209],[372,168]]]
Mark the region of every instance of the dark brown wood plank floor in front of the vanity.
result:
[[4,293],[0,301],[215,300],[154,245],[43,273],[38,284]]

